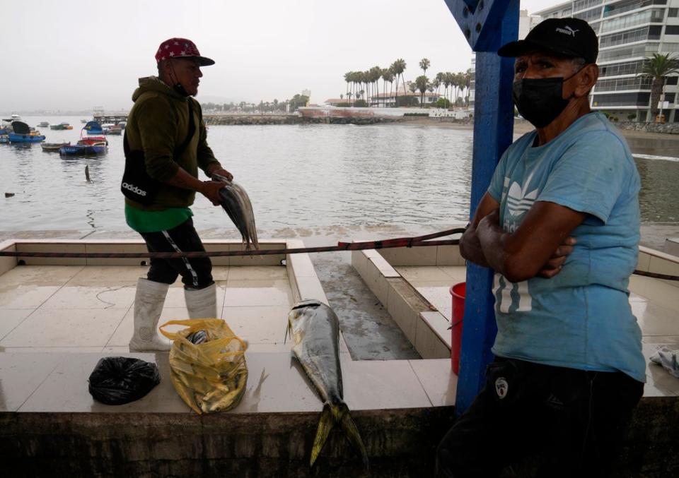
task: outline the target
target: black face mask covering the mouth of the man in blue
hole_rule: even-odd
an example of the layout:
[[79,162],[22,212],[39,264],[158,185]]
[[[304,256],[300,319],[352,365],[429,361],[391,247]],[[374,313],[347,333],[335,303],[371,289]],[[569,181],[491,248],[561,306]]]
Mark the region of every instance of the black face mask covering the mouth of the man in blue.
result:
[[568,78],[523,78],[511,85],[512,98],[516,109],[536,128],[544,128],[556,119],[567,104],[562,97],[564,82],[576,76],[576,71]]

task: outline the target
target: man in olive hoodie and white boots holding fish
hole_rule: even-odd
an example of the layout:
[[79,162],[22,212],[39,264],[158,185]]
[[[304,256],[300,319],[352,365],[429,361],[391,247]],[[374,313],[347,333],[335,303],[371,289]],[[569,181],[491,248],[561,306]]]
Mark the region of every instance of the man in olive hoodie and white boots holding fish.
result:
[[[193,226],[195,193],[219,205],[221,181],[201,181],[198,168],[209,177],[232,179],[207,145],[198,92],[200,67],[214,61],[201,56],[195,44],[170,38],[156,53],[158,76],[139,79],[134,106],[129,112],[126,160],[144,161],[156,184],[155,193],[144,201],[126,194],[127,225],[141,234],[150,252],[204,251]],[[190,117],[192,116],[192,117]],[[132,152],[132,153],[131,153]],[[143,153],[143,154],[141,154]],[[132,185],[123,182],[123,188]],[[143,203],[142,203],[143,202]],[[156,332],[170,284],[182,276],[190,318],[216,317],[216,287],[209,258],[151,259],[146,279],[137,282],[134,298],[134,335],[130,351],[168,350],[168,340]]]

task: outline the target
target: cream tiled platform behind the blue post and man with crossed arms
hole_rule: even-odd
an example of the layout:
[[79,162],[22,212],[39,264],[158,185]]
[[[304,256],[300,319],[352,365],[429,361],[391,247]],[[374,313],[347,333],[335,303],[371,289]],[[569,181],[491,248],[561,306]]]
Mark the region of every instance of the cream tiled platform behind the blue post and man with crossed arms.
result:
[[[464,260],[456,246],[355,251],[352,263],[388,308],[393,306],[392,297],[407,295],[402,283],[406,282],[421,299],[404,301],[402,306],[393,306],[390,313],[402,324],[406,335],[414,335],[416,345],[419,337],[426,335],[450,349],[448,327],[452,299],[449,289],[465,280]],[[679,275],[679,258],[642,247],[637,268]],[[679,349],[679,281],[633,275],[629,289],[629,303],[642,329],[647,362],[644,396],[679,396],[679,378],[649,360],[659,347]],[[423,351],[420,353],[424,356]]]

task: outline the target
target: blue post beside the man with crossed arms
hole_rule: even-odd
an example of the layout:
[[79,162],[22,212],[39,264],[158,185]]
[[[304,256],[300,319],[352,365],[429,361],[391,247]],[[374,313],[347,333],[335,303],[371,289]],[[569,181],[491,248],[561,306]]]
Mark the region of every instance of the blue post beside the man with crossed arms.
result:
[[[513,135],[513,59],[497,56],[518,37],[518,0],[446,0],[476,53],[474,148],[470,217],[486,192]],[[468,263],[460,374],[455,412],[464,412],[484,386],[495,340],[493,271]]]

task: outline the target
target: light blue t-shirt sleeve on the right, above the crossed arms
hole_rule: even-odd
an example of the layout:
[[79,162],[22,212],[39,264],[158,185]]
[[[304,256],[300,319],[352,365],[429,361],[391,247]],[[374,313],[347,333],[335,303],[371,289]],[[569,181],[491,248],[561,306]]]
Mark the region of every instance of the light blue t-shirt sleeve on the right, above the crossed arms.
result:
[[631,165],[629,150],[613,133],[588,133],[555,162],[537,201],[557,203],[605,223],[632,174]]

